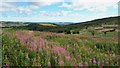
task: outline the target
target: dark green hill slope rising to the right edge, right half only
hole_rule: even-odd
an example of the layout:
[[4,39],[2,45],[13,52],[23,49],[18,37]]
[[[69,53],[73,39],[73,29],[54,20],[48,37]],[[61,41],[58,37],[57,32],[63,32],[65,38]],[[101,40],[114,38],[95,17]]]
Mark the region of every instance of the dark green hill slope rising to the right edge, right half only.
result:
[[120,17],[118,17],[118,16],[117,17],[108,17],[108,18],[87,21],[87,22],[69,24],[69,25],[65,25],[64,28],[70,29],[70,30],[75,30],[76,32],[78,32],[81,29],[87,29],[88,27],[93,27],[93,26],[116,25],[116,24],[118,24],[119,19],[120,19]]

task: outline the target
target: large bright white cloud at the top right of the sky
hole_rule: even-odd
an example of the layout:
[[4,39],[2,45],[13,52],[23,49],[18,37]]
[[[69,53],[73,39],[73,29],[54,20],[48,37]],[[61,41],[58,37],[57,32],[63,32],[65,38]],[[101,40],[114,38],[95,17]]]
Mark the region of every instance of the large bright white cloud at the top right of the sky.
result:
[[59,7],[67,7],[74,10],[106,11],[108,7],[114,6],[118,2],[119,0],[72,0],[70,5],[67,2],[63,2]]

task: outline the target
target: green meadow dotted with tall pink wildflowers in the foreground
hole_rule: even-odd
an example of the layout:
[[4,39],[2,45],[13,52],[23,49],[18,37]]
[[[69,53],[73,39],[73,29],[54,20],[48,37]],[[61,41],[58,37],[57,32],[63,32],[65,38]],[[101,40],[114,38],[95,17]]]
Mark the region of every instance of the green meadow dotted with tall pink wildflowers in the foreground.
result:
[[62,34],[4,29],[3,66],[118,66],[118,33]]

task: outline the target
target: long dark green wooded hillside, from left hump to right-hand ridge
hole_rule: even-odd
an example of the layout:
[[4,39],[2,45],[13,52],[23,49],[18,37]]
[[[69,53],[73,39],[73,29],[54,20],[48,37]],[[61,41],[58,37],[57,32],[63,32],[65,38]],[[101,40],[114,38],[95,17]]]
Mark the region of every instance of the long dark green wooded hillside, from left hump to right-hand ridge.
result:
[[56,25],[56,26],[44,26],[39,25],[38,23],[31,23],[27,26],[20,26],[18,28],[36,30],[36,31],[46,31],[46,32],[56,32],[56,33],[67,33],[70,34],[71,30],[74,30],[74,33],[78,33],[80,30],[87,29],[93,26],[101,25],[113,25],[118,24],[118,17],[109,17],[103,19],[96,19],[87,22],[80,22],[68,25]]

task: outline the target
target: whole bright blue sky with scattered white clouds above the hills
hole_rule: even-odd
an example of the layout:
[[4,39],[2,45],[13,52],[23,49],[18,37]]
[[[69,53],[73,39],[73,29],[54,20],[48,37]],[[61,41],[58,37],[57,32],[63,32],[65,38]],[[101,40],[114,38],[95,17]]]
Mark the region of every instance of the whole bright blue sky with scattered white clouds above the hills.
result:
[[120,0],[0,0],[0,21],[85,22],[118,16]]

